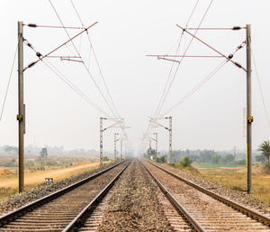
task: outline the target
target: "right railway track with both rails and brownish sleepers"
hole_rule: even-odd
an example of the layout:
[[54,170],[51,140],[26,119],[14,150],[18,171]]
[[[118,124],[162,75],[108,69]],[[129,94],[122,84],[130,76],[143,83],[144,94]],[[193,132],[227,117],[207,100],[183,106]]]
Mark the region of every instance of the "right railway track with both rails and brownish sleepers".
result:
[[[270,218],[206,190],[157,164],[142,164],[193,229],[197,231],[270,231]],[[168,218],[170,221],[170,219]],[[174,226],[174,224],[172,224]],[[192,228],[190,228],[192,229]],[[178,231],[177,227],[175,230]]]

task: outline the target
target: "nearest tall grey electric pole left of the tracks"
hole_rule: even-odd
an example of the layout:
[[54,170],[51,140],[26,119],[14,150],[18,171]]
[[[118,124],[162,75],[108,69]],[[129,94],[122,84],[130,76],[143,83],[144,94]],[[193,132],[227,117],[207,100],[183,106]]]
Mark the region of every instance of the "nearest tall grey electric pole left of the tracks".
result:
[[25,107],[23,103],[23,22],[18,22],[18,101],[19,114],[17,120],[19,122],[19,192],[24,187],[24,123],[25,123]]

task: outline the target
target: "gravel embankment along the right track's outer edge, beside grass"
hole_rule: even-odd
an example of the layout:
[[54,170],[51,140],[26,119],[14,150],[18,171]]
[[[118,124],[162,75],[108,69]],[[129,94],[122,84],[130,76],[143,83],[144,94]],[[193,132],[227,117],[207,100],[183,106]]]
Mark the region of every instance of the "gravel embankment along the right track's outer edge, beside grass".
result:
[[234,200],[250,209],[256,209],[257,211],[266,214],[267,216],[270,217],[270,207],[262,203],[261,201],[252,198],[246,192],[231,190],[225,186],[220,185],[215,181],[210,181],[207,180],[206,178],[199,177],[191,173],[183,172],[181,170],[168,166],[167,164],[164,163],[157,163],[157,164],[165,168],[166,170],[174,172],[189,181],[193,181],[194,183],[202,186],[203,188],[218,193],[223,197],[229,198],[230,200]]

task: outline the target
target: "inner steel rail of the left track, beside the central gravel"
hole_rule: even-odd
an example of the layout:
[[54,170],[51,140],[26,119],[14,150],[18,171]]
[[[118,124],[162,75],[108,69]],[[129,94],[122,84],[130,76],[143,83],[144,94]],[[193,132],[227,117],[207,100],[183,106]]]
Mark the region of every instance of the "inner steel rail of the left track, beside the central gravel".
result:
[[70,232],[76,230],[78,227],[80,227],[81,224],[84,224],[85,218],[89,217],[90,213],[93,212],[93,210],[96,208],[98,203],[100,203],[101,200],[103,200],[103,197],[111,190],[113,184],[115,181],[118,180],[118,178],[121,176],[121,173],[125,171],[125,169],[130,165],[130,162],[128,162],[121,172],[119,172],[110,183],[106,185],[106,187],[101,190],[94,198],[94,200],[91,200],[91,202],[83,209],[77,216],[74,218],[68,225],[65,227],[62,232]]

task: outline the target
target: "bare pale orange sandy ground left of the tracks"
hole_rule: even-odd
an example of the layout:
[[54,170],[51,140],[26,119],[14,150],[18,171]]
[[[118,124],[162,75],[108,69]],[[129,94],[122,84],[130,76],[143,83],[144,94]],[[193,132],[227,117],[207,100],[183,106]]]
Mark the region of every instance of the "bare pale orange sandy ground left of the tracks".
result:
[[[48,170],[48,171],[37,171],[31,173],[24,174],[24,184],[25,187],[33,187],[37,186],[44,182],[45,178],[53,178],[53,181],[61,181],[71,175],[79,174],[85,171],[92,170],[99,166],[99,162],[92,163],[82,163],[76,166],[56,169],[56,170]],[[0,181],[0,188],[17,188],[18,187],[18,177],[8,178],[8,180]]]

